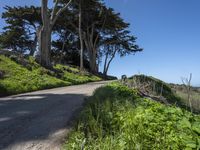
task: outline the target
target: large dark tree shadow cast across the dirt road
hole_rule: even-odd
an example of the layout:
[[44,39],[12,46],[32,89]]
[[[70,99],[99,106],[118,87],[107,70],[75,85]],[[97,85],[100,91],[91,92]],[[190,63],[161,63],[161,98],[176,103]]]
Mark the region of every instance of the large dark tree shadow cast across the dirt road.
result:
[[83,103],[81,94],[27,94],[0,99],[0,149],[46,140],[65,129]]

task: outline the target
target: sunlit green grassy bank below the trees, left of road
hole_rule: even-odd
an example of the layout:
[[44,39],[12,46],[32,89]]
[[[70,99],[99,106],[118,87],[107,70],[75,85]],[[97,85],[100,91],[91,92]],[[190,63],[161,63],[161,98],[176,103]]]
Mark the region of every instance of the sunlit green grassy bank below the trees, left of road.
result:
[[77,68],[56,65],[53,71],[28,59],[0,55],[0,96],[99,81],[99,77],[81,73]]

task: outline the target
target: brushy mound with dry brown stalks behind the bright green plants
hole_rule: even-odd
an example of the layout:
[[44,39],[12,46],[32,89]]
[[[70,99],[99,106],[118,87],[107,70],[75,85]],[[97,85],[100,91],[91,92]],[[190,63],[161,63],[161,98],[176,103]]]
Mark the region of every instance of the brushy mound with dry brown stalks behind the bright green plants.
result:
[[[129,78],[125,85],[136,88],[140,92],[145,93],[158,99],[166,99],[169,104],[176,104],[182,108],[190,109],[187,99],[187,92],[183,85],[168,84],[159,79],[145,75],[135,75]],[[193,112],[200,112],[200,92],[198,88],[191,87],[191,103]]]

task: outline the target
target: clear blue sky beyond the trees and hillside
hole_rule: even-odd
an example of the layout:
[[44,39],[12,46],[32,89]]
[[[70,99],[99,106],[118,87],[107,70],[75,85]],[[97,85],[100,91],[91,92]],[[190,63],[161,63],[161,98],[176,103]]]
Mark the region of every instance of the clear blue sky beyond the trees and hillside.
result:
[[[51,1],[51,0],[50,0]],[[120,77],[141,73],[166,82],[181,83],[193,74],[200,85],[200,1],[199,0],[105,0],[131,24],[144,51],[116,57],[109,74]],[[1,0],[5,5],[39,5],[40,0]],[[0,20],[0,28],[3,26]]]

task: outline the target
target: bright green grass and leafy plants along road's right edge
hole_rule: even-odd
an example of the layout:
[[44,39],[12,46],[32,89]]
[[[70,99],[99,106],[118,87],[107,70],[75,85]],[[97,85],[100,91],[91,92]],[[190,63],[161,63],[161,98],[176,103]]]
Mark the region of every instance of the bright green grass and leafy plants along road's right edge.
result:
[[200,149],[200,116],[141,98],[117,83],[86,101],[63,149]]

